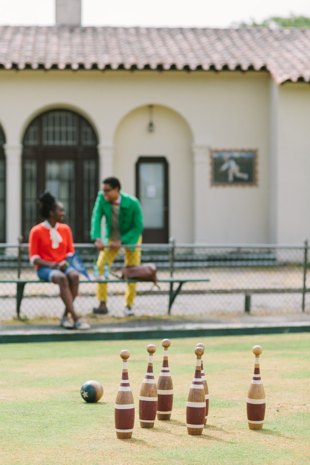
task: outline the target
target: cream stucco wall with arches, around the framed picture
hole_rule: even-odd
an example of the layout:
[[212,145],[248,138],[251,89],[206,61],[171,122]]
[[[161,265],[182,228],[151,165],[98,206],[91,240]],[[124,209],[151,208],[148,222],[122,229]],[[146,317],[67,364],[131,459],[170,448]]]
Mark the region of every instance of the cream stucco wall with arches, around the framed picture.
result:
[[[268,73],[1,70],[0,90],[0,124],[7,138],[7,157],[14,157],[9,179],[13,179],[14,173],[16,179],[20,179],[17,168],[20,149],[16,147],[20,146],[26,126],[33,117],[52,107],[72,108],[90,120],[98,134],[100,177],[119,173],[120,178],[124,177],[123,185],[128,192],[134,194],[134,169],[132,166],[128,174],[121,167],[120,159],[125,152],[130,153],[132,163],[142,150],[150,154],[152,150],[160,150],[158,154],[166,153],[170,157],[173,167],[170,170],[173,199],[170,225],[171,234],[178,242],[191,238],[209,243],[268,241]],[[119,134],[123,131],[127,138],[128,128],[132,127],[138,137],[141,116],[137,114],[135,118],[134,110],[149,104],[167,108],[161,118],[163,123],[166,118],[168,126],[155,121],[158,133],[155,130],[151,135],[155,136],[153,145],[146,139],[132,138],[128,147]],[[132,119],[129,121],[127,115],[130,113]],[[188,164],[192,156],[188,147],[190,142],[192,167]],[[209,148],[257,149],[258,186],[212,187]],[[184,166],[177,163],[178,150]],[[194,173],[194,187],[188,193],[190,189],[186,186],[183,195],[181,191],[187,171],[190,176]],[[8,184],[8,241],[16,241],[20,233],[17,214],[20,205],[18,201],[15,203],[16,192],[13,190]],[[177,200],[178,195],[181,202]],[[185,228],[191,202],[195,214],[193,227]],[[177,234],[180,225],[183,225],[184,234]]]

